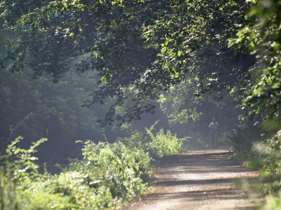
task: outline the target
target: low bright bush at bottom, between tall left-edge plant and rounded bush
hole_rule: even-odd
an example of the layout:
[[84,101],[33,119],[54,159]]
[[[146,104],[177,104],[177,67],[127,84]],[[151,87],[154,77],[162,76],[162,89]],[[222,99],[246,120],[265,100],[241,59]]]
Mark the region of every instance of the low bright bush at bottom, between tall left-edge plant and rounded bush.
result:
[[23,183],[18,189],[20,209],[103,209],[112,204],[109,189],[91,186],[84,172],[56,174]]

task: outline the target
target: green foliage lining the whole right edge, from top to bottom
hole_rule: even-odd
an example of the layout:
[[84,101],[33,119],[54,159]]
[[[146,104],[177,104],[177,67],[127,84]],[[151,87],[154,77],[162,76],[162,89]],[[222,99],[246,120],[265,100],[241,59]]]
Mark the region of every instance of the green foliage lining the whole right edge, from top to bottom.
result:
[[[229,40],[230,45],[246,47],[248,53],[256,56],[249,69],[251,78],[244,81],[242,97],[242,109],[249,113],[249,117],[244,117],[253,123],[242,128],[247,132],[243,136],[240,132],[235,144],[236,151],[260,169],[261,190],[266,195],[262,208],[280,209],[281,1],[252,2],[246,15],[251,24],[242,25],[237,37]],[[241,142],[245,137],[247,146]]]

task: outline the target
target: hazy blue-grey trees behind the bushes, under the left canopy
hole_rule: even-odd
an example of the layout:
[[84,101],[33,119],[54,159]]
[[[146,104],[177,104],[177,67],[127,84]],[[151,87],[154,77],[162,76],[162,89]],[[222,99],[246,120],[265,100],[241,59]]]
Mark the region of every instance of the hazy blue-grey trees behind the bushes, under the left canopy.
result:
[[[12,139],[21,135],[28,145],[41,137],[48,137],[40,156],[44,161],[55,155],[56,159],[66,159],[77,146],[77,139],[100,138],[100,129],[96,112],[82,107],[96,88],[96,74],[76,73],[73,70],[65,74],[60,83],[53,83],[48,76],[33,80],[32,72],[0,72],[0,139],[4,148]],[[96,110],[105,113],[106,109],[96,106]],[[53,144],[57,146],[53,147]],[[52,151],[47,151],[48,148]],[[69,151],[67,151],[67,150]],[[4,149],[1,149],[3,152]]]

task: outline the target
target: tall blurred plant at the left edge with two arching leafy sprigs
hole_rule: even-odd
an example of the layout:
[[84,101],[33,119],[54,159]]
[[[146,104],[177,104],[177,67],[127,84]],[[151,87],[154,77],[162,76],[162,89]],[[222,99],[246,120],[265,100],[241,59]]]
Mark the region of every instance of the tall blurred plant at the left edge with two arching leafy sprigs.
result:
[[37,172],[38,166],[34,164],[37,160],[33,156],[37,151],[35,148],[47,139],[40,139],[33,143],[29,149],[15,146],[22,137],[18,137],[6,148],[6,155],[1,156],[3,165],[0,168],[0,209],[24,209],[20,208],[23,203],[19,202],[21,191],[18,187],[23,183],[41,178]]

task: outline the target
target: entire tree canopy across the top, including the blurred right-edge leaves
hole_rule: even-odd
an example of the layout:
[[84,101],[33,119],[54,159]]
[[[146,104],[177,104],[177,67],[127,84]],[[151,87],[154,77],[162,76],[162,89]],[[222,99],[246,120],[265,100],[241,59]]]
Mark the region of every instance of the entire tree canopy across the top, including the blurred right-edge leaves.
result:
[[[187,78],[197,78],[195,96],[242,86],[252,111],[280,116],[280,1],[6,0],[1,9],[14,37],[1,67],[56,82],[83,56],[77,70],[96,69],[99,85],[85,105],[115,98],[104,125],[140,118]],[[125,87],[133,103],[115,116]]]

